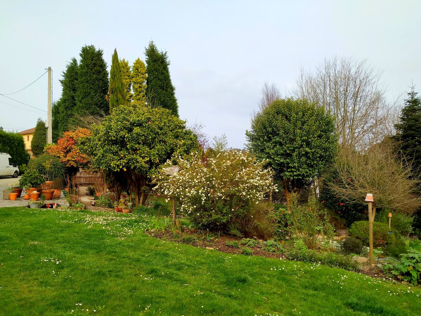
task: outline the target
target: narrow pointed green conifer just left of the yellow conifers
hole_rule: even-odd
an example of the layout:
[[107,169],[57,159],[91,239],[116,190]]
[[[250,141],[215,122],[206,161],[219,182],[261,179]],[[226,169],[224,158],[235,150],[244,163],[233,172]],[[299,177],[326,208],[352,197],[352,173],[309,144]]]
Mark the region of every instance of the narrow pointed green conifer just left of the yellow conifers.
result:
[[114,54],[112,54],[111,70],[109,72],[108,98],[110,113],[113,108],[122,104],[127,104],[123,72],[118,60],[117,49],[114,49]]

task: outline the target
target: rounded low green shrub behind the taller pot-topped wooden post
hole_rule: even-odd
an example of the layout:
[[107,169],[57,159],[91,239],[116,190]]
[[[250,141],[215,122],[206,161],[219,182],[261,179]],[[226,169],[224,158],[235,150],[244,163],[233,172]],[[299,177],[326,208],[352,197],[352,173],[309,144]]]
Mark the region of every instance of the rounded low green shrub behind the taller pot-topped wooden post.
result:
[[[378,247],[385,244],[393,244],[396,240],[394,234],[389,234],[389,225],[381,222],[373,222],[373,246]],[[360,240],[367,239],[368,242],[368,221],[354,222],[349,228],[349,235]]]

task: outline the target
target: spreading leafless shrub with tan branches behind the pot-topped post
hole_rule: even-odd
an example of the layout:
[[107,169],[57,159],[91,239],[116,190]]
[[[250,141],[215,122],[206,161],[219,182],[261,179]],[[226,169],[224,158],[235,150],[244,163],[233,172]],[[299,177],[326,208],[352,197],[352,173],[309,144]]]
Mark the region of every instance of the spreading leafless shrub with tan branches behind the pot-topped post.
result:
[[377,207],[411,213],[421,205],[418,179],[387,142],[364,153],[342,146],[335,169],[337,178],[330,188],[348,202],[363,202],[367,193],[373,193]]

